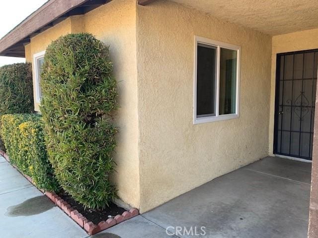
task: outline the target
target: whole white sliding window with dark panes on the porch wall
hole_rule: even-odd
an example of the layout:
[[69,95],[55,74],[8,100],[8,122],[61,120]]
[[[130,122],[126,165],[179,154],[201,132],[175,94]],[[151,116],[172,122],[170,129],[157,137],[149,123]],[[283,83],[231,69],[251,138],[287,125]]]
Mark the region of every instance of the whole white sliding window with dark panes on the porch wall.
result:
[[239,117],[240,47],[195,37],[193,123]]

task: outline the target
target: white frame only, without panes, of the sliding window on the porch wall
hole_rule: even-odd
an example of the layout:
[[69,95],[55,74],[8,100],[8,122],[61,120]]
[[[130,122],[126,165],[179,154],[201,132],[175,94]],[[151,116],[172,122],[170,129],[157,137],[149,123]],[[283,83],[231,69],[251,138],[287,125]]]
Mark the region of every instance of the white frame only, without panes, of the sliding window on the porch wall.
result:
[[[216,98],[215,116],[197,117],[197,49],[198,44],[214,46],[217,48],[217,67],[216,67]],[[237,51],[237,78],[236,78],[236,113],[219,115],[219,93],[220,93],[220,52],[221,48]],[[212,121],[229,120],[239,118],[239,68],[240,68],[240,47],[220,41],[210,40],[204,37],[194,37],[194,86],[193,86],[193,124],[200,124]]]

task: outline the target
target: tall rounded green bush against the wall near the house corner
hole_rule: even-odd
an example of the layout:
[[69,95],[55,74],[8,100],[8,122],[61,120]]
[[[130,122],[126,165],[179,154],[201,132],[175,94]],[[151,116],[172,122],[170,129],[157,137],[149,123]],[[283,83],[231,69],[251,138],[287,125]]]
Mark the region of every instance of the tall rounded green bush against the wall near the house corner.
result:
[[109,181],[117,128],[108,48],[91,34],[69,34],[47,48],[41,113],[49,159],[63,189],[87,208],[101,209],[115,196]]

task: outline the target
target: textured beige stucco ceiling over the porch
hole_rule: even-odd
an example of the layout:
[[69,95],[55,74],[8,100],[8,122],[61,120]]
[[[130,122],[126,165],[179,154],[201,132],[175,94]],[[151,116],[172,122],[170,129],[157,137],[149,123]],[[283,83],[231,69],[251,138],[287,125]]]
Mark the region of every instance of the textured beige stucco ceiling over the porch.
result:
[[318,28],[317,0],[172,1],[272,36]]

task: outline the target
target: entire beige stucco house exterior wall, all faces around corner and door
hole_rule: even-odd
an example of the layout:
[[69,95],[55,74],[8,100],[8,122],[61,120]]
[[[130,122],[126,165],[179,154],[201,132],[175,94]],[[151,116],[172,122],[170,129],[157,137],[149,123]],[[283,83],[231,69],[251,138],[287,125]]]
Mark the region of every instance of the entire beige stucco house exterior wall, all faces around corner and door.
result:
[[[113,180],[142,213],[272,154],[276,54],[318,48],[318,29],[271,37],[172,1],[113,0],[33,37],[26,60],[77,32],[110,46],[120,129]],[[241,47],[238,119],[193,124],[194,36]]]

